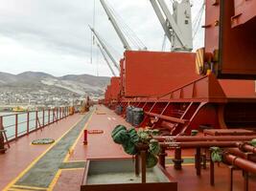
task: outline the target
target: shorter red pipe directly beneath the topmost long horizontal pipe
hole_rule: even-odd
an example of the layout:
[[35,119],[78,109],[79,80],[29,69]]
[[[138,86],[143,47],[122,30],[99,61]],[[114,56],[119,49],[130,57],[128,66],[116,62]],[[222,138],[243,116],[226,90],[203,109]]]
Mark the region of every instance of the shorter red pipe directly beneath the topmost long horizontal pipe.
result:
[[160,142],[161,147],[170,148],[209,148],[213,146],[218,147],[236,147],[235,141],[193,141],[193,142]]

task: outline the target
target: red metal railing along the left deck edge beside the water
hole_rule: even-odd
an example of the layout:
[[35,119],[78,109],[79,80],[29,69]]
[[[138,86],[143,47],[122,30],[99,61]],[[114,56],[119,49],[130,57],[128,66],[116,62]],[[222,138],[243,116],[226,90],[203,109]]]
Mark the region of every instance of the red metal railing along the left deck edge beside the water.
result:
[[[8,141],[29,135],[69,116],[68,107],[0,116],[0,129],[6,130]],[[5,140],[6,142],[6,140]]]

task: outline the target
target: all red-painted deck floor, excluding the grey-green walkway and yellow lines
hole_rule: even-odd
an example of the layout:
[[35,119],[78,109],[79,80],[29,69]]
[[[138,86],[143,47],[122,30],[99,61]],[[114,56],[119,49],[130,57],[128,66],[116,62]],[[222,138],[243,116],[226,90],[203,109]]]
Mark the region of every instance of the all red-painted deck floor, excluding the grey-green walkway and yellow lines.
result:
[[[123,151],[120,145],[115,144],[110,133],[117,124],[124,124],[129,127],[124,118],[118,117],[113,111],[104,106],[97,106],[98,110],[90,117],[85,124],[88,130],[103,130],[104,134],[88,135],[88,145],[83,145],[83,135],[70,148],[70,155],[64,160],[69,164],[72,162],[85,162],[86,159],[117,159],[130,158]],[[6,155],[0,156],[0,163],[3,168],[0,173],[0,190],[5,185],[19,175],[30,163],[40,156],[49,146],[31,146],[30,142],[35,138],[60,138],[68,131],[79,119],[80,115],[68,117],[50,127],[46,127],[42,132],[36,132],[29,137],[20,138],[12,143],[12,148]],[[50,131],[49,131],[50,130]],[[192,157],[193,150],[182,152],[183,157]],[[169,153],[172,157],[172,152]],[[80,190],[81,179],[84,167],[59,169],[58,174],[53,180],[53,185],[48,190],[75,191]],[[168,172],[178,181],[179,191],[224,191],[228,190],[228,168],[224,165],[216,167],[216,185],[210,186],[209,170],[202,170],[202,175],[197,177],[193,164],[183,166],[181,171],[175,171],[173,166],[167,167]],[[243,178],[241,172],[235,172],[234,190],[243,190]],[[256,180],[249,181],[250,191],[256,191]]]

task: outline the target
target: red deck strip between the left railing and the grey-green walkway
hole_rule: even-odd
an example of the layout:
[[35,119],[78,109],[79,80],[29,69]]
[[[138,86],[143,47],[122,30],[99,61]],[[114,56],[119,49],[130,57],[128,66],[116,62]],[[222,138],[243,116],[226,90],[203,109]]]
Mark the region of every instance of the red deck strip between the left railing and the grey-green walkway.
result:
[[5,155],[0,155],[0,190],[8,183],[17,178],[22,171],[29,167],[32,162],[42,155],[51,145],[31,145],[37,138],[60,138],[81,119],[81,115],[75,115],[38,130],[27,137],[19,138],[11,143],[11,148]]

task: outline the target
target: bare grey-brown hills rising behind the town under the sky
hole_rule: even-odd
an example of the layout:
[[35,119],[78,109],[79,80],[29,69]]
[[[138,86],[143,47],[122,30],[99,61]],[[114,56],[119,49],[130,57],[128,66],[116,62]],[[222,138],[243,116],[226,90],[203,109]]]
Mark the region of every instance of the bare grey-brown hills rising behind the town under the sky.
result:
[[83,95],[104,94],[109,77],[94,76],[89,74],[69,74],[61,77],[51,74],[25,72],[21,74],[0,73],[0,92],[34,92],[44,90],[55,93]]

